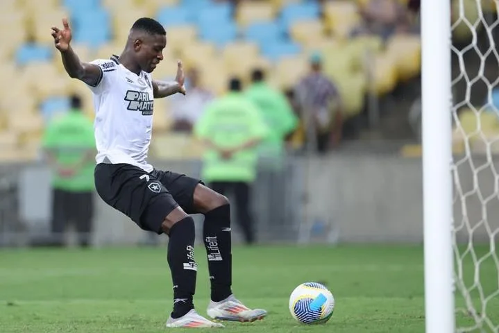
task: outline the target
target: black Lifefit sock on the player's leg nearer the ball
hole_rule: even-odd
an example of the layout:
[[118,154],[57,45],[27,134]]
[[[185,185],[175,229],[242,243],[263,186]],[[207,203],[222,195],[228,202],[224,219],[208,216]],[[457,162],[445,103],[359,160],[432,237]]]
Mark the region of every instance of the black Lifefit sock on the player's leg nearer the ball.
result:
[[211,297],[214,302],[219,302],[232,293],[230,205],[217,207],[205,214],[203,240],[208,255]]

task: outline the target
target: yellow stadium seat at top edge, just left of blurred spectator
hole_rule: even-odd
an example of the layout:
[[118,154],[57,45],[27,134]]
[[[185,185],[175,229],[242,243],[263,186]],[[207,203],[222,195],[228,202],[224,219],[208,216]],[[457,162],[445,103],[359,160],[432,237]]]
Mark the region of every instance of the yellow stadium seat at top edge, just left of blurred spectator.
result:
[[339,38],[348,37],[348,33],[360,22],[360,14],[353,1],[328,1],[323,8],[326,28]]

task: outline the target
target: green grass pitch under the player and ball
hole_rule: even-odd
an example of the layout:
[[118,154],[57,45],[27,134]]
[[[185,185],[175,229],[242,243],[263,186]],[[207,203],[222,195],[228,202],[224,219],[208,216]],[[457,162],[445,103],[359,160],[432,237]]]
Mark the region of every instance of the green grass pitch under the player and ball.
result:
[[[196,248],[194,299],[205,315],[209,280]],[[487,248],[482,250],[487,253]],[[223,332],[424,332],[421,246],[255,246],[233,250],[233,289],[264,321],[226,323]],[[466,260],[466,259],[465,259]],[[469,262],[473,268],[472,262]],[[485,295],[498,290],[493,261],[480,266]],[[473,282],[473,269],[466,272]],[[300,325],[288,297],[301,282],[324,282],[336,299],[325,325]],[[165,248],[0,250],[0,332],[192,332],[167,329],[171,278]],[[457,302],[462,302],[459,298]],[[479,298],[475,302],[480,304]],[[499,301],[487,303],[499,325]],[[458,325],[473,320],[457,313]],[[490,330],[476,332],[491,332]]]

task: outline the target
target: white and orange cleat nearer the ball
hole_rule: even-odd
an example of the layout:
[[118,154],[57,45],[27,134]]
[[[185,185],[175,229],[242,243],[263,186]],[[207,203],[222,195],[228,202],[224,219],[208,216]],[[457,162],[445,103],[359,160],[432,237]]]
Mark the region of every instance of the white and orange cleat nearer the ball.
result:
[[258,321],[267,316],[267,311],[249,309],[233,295],[220,302],[210,301],[206,312],[210,318],[217,321],[240,321],[243,323]]

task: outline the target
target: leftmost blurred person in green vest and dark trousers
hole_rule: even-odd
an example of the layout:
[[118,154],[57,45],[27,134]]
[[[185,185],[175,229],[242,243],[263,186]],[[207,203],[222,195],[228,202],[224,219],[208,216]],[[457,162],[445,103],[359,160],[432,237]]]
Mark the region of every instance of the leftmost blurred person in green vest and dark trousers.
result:
[[90,245],[94,213],[95,140],[92,121],[83,114],[79,96],[71,96],[69,112],[53,119],[42,137],[52,179],[52,246],[65,246],[70,221],[78,245]]

